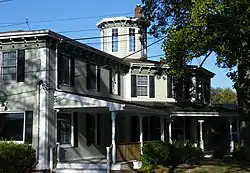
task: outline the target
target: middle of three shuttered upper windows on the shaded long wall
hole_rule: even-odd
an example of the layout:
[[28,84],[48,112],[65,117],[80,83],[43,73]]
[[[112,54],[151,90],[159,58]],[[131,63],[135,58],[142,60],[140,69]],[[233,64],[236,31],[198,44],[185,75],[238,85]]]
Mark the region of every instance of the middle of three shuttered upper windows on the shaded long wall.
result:
[[100,91],[100,68],[95,64],[87,64],[87,89]]

